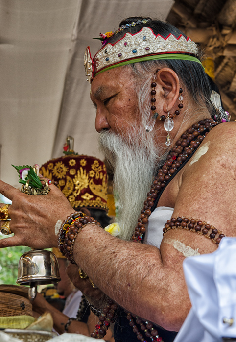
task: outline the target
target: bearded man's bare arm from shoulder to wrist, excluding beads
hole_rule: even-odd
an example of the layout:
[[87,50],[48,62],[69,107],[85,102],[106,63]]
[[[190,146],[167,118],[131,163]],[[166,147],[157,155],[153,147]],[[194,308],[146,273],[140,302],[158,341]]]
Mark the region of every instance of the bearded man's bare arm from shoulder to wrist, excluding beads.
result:
[[[199,154],[198,160],[186,168],[173,217],[206,221],[234,236],[236,203],[232,194],[236,193],[236,168],[235,152],[230,147],[236,131],[231,127],[216,127],[209,133],[204,141],[206,153]],[[120,241],[88,225],[76,239],[74,259],[119,305],[166,329],[178,330],[189,312],[190,301],[182,269],[185,255],[176,247],[176,241],[200,254],[217,248],[197,233],[170,230],[159,250]]]

